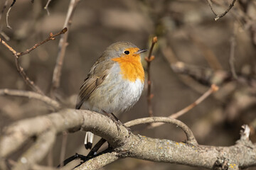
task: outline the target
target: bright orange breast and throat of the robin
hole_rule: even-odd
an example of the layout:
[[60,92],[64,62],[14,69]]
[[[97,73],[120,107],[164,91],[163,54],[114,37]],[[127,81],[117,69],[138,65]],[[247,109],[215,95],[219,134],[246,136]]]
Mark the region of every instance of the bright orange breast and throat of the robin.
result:
[[140,79],[144,82],[144,69],[140,55],[123,55],[122,57],[113,58],[112,60],[119,63],[121,68],[120,73],[123,79],[132,82],[135,82],[136,79]]

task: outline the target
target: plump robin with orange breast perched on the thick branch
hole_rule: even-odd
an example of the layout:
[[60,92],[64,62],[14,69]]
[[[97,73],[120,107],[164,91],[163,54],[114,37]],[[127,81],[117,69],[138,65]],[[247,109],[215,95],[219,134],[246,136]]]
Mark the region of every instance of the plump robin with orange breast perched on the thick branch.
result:
[[[80,87],[75,108],[108,116],[132,108],[144,87],[142,52],[146,50],[140,50],[131,42],[115,42],[107,47]],[[92,132],[86,132],[86,149],[92,148],[92,140]]]

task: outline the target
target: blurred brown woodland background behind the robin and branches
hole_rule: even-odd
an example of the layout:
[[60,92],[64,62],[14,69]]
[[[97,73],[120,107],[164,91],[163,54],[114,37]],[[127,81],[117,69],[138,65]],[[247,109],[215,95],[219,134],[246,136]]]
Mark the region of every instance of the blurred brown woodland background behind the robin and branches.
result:
[[[18,52],[25,51],[49,33],[62,30],[70,1],[16,1],[1,18],[1,32]],[[222,13],[231,1],[215,0],[213,8]],[[9,1],[8,7],[11,5]],[[0,2],[0,9],[4,1]],[[139,48],[149,48],[155,35],[155,60],[151,63],[152,106],[154,116],[169,116],[196,101],[217,84],[219,91],[178,119],[193,131],[200,145],[230,146],[239,139],[241,126],[250,125],[252,142],[256,141],[256,1],[237,0],[230,12],[214,21],[207,1],[201,0],[97,0],[80,1],[68,30],[60,88],[57,98],[67,108],[75,108],[80,85],[92,64],[105,48],[117,41],[129,41]],[[3,35],[3,34],[2,34]],[[2,38],[2,37],[1,37]],[[58,40],[41,45],[21,57],[28,77],[49,95],[53,69],[58,54]],[[231,53],[230,53],[231,52]],[[233,52],[233,53],[232,53]],[[146,57],[145,54],[142,57]],[[235,60],[233,60],[233,58]],[[231,73],[234,65],[236,74]],[[144,62],[146,66],[146,62]],[[146,67],[145,67],[146,68]],[[146,81],[145,81],[146,83]],[[0,89],[31,90],[18,74],[14,56],[0,45]],[[146,89],[139,102],[119,116],[122,123],[147,117]],[[0,97],[0,128],[16,120],[50,113],[41,101],[18,97]],[[140,135],[181,142],[186,136],[173,125],[147,129],[132,128]],[[1,134],[0,134],[1,135]],[[87,154],[85,132],[68,134],[65,158]],[[28,148],[28,141],[15,156]],[[53,166],[60,162],[62,135],[53,147]],[[48,164],[49,158],[41,164]],[[198,169],[189,166],[120,159],[104,169]],[[250,168],[256,169],[256,168]]]

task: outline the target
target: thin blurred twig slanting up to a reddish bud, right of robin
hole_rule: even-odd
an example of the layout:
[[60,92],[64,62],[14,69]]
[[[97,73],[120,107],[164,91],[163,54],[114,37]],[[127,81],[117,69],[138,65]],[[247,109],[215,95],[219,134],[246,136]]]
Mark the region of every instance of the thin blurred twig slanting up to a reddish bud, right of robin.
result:
[[[176,119],[176,118],[180,117],[181,115],[187,113],[188,111],[190,111],[195,106],[198,106],[199,103],[204,101],[208,96],[210,96],[210,94],[213,94],[213,92],[215,92],[215,91],[218,91],[218,86],[216,86],[215,84],[212,84],[210,86],[210,89],[208,89],[208,91],[206,91],[206,93],[204,93],[200,98],[198,98],[196,101],[191,103],[186,108],[183,108],[181,111],[178,111],[177,113],[169,115],[168,118],[175,118]],[[164,125],[164,123],[153,123],[153,124],[151,124],[151,126],[149,126],[149,128],[156,128],[159,125]]]

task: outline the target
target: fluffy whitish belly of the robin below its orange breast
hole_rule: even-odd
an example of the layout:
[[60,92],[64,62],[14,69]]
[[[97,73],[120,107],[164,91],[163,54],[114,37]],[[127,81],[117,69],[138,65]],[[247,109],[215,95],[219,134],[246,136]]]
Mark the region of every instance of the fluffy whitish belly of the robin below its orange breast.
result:
[[90,98],[82,105],[83,109],[102,113],[119,114],[134,106],[142,95],[144,81],[132,82],[122,79],[119,67],[113,67],[105,81],[93,91]]

